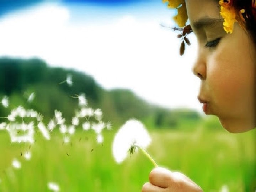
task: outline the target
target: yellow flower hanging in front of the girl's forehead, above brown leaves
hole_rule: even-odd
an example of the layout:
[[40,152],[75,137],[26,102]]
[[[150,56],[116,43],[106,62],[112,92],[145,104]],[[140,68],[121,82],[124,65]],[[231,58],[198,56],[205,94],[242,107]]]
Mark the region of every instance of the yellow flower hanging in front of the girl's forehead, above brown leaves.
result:
[[[177,9],[178,14],[173,17],[174,21],[178,24],[179,27],[184,27],[188,20],[187,7],[185,0],[162,0],[163,3],[168,2],[167,7],[171,9]],[[180,6],[181,5],[181,6]]]

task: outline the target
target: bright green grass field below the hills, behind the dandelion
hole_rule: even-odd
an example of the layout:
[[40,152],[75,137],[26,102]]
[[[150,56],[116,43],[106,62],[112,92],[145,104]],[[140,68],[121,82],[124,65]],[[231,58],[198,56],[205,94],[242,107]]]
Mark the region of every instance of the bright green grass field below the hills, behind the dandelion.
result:
[[[103,145],[96,143],[93,132],[77,131],[72,145],[63,145],[58,134],[53,133],[50,141],[38,134],[27,161],[23,156],[29,144],[11,144],[7,132],[1,131],[0,191],[45,192],[50,181],[67,192],[141,191],[153,165],[141,153],[117,164],[111,153],[114,133],[103,133]],[[255,192],[256,130],[231,134],[198,128],[151,131],[150,135],[153,142],[147,151],[159,166],[183,172],[205,192],[218,192],[223,185],[230,192]],[[21,162],[21,169],[11,166],[14,158]]]

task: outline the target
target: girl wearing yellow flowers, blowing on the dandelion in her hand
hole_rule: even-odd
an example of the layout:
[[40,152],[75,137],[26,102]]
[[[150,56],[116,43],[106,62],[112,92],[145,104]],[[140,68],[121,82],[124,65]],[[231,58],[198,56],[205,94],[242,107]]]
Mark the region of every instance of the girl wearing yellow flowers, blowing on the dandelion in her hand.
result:
[[[231,133],[256,126],[256,2],[255,0],[168,0],[178,7],[180,27],[188,19],[197,37],[193,73],[201,79],[198,94],[206,114],[218,116]],[[180,6],[182,4],[182,6]],[[190,178],[158,167],[143,192],[201,192]]]

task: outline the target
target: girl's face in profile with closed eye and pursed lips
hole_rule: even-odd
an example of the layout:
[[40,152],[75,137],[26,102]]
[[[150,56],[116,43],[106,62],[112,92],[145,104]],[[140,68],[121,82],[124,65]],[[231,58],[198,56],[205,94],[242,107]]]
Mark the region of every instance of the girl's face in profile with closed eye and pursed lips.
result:
[[254,128],[255,45],[238,22],[233,33],[224,31],[217,1],[186,0],[186,6],[197,37],[193,73],[201,79],[198,99],[204,112],[218,116],[232,133]]

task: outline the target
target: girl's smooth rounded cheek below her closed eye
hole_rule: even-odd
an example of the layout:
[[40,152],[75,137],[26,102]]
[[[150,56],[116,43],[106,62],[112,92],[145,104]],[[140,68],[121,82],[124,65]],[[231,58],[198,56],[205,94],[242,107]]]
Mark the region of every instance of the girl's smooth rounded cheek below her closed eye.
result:
[[244,111],[254,87],[254,70],[245,64],[245,60],[219,55],[207,66],[208,88],[218,111]]

